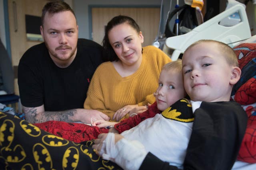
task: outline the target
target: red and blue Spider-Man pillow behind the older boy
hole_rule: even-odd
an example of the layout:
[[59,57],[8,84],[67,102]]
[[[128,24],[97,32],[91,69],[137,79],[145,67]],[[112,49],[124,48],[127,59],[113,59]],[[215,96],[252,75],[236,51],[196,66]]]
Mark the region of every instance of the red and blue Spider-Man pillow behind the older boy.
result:
[[248,123],[238,160],[256,163],[256,43],[241,43],[233,48],[242,70],[233,87],[232,98],[240,103],[248,115]]

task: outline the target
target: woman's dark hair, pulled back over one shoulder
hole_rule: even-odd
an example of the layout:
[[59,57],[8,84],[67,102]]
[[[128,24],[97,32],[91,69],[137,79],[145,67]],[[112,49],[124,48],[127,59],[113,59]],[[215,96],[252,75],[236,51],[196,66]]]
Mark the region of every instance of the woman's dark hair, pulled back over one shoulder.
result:
[[121,15],[112,18],[112,20],[110,20],[107,26],[105,27],[105,35],[102,41],[102,46],[106,52],[106,55],[104,55],[104,61],[118,61],[119,59],[109,42],[108,33],[114,26],[119,25],[121,23],[128,23],[137,31],[137,33],[140,33],[139,25],[132,18]]

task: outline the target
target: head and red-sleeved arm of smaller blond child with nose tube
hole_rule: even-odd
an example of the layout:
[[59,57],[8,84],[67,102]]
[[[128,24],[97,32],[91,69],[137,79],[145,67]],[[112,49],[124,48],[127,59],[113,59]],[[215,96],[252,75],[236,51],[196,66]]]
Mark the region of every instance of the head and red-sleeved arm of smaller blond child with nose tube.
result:
[[110,132],[122,133],[132,127],[135,127],[143,120],[154,117],[157,113],[161,113],[169,106],[174,104],[181,98],[186,97],[182,77],[182,61],[172,61],[162,68],[158,80],[158,88],[154,93],[156,102],[148,107],[148,110],[129,119],[124,119],[120,123],[108,121],[95,121],[98,127],[114,126]]

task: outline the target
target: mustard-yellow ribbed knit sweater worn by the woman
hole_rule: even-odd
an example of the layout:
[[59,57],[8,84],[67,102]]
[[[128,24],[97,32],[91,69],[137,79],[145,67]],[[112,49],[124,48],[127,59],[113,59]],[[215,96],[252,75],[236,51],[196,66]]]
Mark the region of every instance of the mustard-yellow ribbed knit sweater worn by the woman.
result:
[[111,62],[100,64],[90,82],[84,108],[101,111],[112,120],[124,106],[154,103],[162,66],[170,61],[163,51],[150,45],[143,47],[142,63],[130,76],[121,77]]

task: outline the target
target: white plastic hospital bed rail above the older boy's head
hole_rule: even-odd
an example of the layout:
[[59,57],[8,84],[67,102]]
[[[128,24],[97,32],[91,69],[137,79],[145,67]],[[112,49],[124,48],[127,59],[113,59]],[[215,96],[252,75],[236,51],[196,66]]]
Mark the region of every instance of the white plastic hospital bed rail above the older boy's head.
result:
[[[240,15],[241,21],[239,23],[230,27],[219,24],[221,20],[235,12],[238,12]],[[236,42],[250,37],[250,25],[248,23],[245,8],[241,4],[236,4],[201,25],[198,25],[186,34],[168,37],[163,51],[168,51],[166,47],[174,49],[171,59],[175,61],[181,53],[184,53],[189,45],[200,39],[221,41],[234,47],[234,45],[237,44]]]

